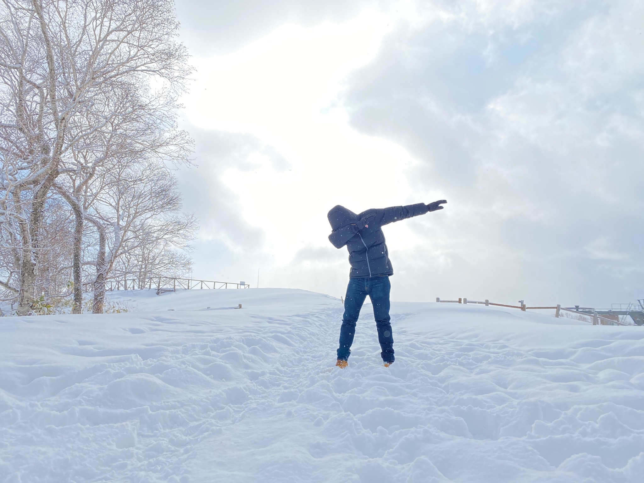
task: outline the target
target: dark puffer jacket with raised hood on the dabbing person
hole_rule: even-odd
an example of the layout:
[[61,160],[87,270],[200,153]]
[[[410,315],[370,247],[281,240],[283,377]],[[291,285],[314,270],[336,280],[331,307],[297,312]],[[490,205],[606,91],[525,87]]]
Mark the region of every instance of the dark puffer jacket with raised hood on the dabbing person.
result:
[[351,264],[350,278],[390,276],[393,267],[381,227],[425,213],[427,205],[424,203],[369,209],[359,214],[337,205],[327,215],[333,229],[328,239],[336,248],[346,245]]

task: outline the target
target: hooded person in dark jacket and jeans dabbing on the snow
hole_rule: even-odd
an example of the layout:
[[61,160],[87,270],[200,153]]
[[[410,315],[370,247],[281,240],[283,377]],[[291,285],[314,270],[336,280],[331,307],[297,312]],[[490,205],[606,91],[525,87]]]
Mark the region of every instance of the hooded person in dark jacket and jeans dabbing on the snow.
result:
[[435,201],[428,205],[419,203],[368,209],[359,214],[337,205],[328,212],[328,222],[333,230],[328,239],[337,249],[346,245],[351,264],[336,366],[345,368],[348,365],[347,360],[354,342],[355,323],[366,296],[369,296],[374,306],[375,325],[384,366],[390,366],[395,360],[389,317],[389,277],[393,275],[393,267],[381,228],[388,223],[441,210],[444,203],[447,203],[447,200]]

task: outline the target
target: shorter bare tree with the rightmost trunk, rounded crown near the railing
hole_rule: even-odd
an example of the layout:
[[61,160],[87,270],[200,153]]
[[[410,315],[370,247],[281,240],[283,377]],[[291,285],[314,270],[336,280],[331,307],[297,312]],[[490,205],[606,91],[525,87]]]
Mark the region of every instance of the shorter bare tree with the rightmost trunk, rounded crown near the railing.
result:
[[158,276],[162,267],[181,270],[198,223],[178,214],[182,207],[175,176],[159,161],[120,162],[95,178],[99,184],[87,220],[99,233],[94,313],[102,313],[105,281],[126,274]]

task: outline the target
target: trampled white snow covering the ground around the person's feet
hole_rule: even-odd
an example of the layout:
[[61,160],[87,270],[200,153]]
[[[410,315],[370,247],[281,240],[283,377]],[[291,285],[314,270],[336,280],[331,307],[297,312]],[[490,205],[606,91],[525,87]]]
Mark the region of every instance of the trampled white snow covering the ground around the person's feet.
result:
[[644,480],[642,327],[393,303],[384,368],[365,305],[340,370],[328,296],[117,297],[0,319],[0,482]]

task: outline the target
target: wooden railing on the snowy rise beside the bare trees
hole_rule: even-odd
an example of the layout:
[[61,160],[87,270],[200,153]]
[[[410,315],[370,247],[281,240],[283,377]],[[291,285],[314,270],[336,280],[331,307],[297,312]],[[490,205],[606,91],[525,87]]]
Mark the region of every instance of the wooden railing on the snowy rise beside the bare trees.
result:
[[[149,277],[149,278],[122,278],[110,279],[105,283],[105,289],[108,292],[114,290],[152,290],[155,289],[157,294],[164,292],[176,292],[176,290],[193,290],[193,289],[249,289],[250,283],[244,282],[220,282],[214,280],[197,280],[193,278],[175,278],[175,277]],[[91,292],[93,283],[84,283],[83,290]]]

